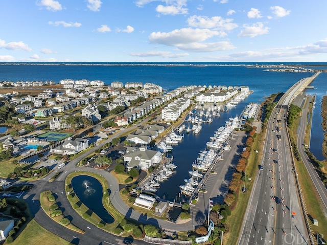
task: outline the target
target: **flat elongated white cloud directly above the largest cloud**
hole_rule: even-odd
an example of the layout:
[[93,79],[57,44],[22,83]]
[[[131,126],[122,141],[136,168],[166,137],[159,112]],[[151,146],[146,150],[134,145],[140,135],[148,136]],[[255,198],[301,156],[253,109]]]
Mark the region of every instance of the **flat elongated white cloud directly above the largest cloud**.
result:
[[188,18],[188,24],[191,27],[199,28],[215,28],[217,30],[230,31],[238,27],[237,24],[232,23],[233,19],[224,19],[220,16],[213,16],[208,18],[207,16],[193,15]]

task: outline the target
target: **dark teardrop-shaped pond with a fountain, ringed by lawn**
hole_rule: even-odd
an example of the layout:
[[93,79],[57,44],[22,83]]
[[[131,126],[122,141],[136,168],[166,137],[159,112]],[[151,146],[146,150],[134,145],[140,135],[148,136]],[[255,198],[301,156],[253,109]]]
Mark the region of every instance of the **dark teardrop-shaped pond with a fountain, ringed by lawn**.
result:
[[72,187],[80,201],[103,221],[111,224],[114,218],[102,204],[102,185],[94,177],[79,175],[72,179]]

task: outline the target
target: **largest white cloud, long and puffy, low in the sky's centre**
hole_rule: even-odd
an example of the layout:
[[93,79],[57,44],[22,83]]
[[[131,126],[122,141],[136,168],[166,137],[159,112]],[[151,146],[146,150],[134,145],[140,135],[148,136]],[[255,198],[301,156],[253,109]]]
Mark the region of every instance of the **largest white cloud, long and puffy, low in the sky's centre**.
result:
[[149,40],[152,43],[173,46],[191,52],[212,52],[235,48],[227,41],[203,42],[208,38],[219,35],[221,35],[221,32],[209,29],[183,28],[172,32],[153,32],[150,34]]

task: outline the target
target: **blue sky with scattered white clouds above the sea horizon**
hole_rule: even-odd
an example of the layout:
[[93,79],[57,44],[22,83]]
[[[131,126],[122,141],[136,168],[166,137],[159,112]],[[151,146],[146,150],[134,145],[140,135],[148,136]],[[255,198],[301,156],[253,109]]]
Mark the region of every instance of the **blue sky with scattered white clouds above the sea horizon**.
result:
[[327,61],[327,1],[3,0],[0,62]]

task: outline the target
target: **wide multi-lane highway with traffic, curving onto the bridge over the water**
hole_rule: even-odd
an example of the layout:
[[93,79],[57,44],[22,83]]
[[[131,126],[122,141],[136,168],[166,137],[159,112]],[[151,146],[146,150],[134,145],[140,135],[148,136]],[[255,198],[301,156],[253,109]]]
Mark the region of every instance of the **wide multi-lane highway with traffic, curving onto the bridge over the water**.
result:
[[310,244],[297,193],[286,119],[292,98],[318,75],[295,83],[273,109],[263,142],[263,168],[255,178],[239,245]]

